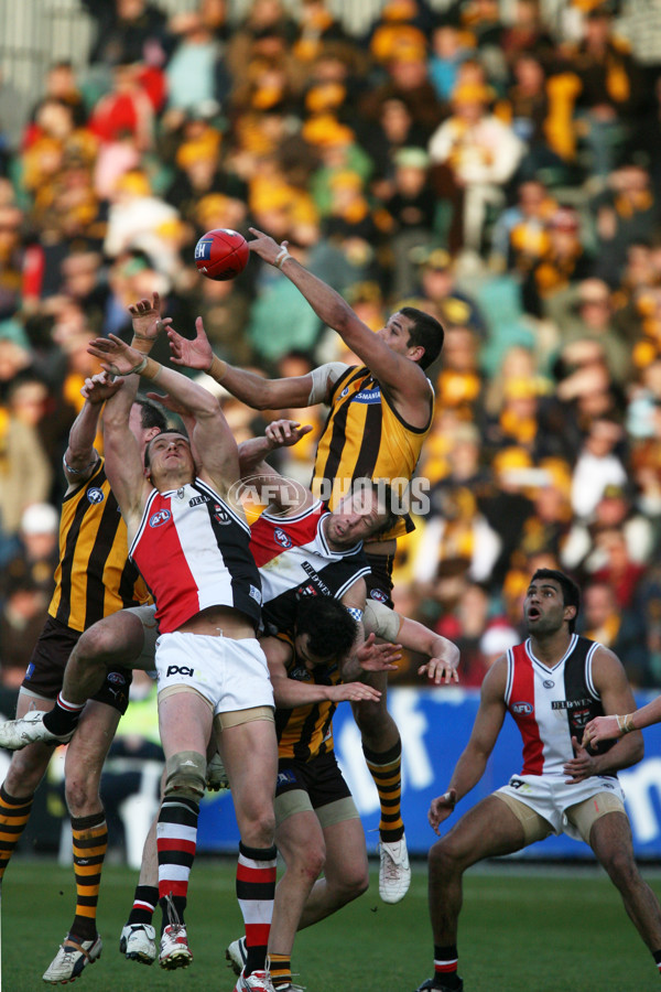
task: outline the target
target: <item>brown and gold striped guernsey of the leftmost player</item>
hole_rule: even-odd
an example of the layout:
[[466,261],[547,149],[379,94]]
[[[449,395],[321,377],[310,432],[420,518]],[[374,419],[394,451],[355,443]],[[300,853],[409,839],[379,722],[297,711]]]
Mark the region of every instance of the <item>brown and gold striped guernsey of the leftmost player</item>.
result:
[[106,478],[104,459],[91,477],[64,497],[59,562],[48,613],[73,630],[149,602],[149,591],[128,559],[127,527]]

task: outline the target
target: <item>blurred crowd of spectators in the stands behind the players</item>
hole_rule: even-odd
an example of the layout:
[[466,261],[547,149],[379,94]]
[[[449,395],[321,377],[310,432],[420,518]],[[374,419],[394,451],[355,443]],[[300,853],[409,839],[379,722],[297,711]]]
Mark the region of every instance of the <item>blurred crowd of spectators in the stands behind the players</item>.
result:
[[[375,330],[404,303],[445,327],[395,602],[459,645],[462,682],[550,565],[582,582],[581,630],[659,684],[661,2],[390,0],[360,31],[333,0],[69,6],[89,44],[43,60],[25,114],[0,78],[3,687],[47,610],[93,337],[158,290],[267,376],[350,360],[258,258],[198,276],[204,231],[249,226]],[[224,405],[239,441],[270,419]],[[307,482],[316,436],[280,467]]]

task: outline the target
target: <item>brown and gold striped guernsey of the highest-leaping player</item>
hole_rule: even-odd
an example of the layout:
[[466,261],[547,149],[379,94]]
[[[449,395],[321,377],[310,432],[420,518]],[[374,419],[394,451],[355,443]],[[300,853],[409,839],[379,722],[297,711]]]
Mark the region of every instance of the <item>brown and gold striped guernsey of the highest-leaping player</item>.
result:
[[[432,425],[433,393],[430,384],[430,417],[426,425],[414,428],[394,409],[379,381],[366,366],[348,368],[339,377],[330,397],[330,412],[324,425],[314,463],[312,490],[327,499],[322,479],[333,485],[327,500],[334,509],[356,478],[383,478],[395,493],[415,471],[424,439]],[[399,483],[393,481],[399,479]],[[404,517],[379,540],[413,530]]]

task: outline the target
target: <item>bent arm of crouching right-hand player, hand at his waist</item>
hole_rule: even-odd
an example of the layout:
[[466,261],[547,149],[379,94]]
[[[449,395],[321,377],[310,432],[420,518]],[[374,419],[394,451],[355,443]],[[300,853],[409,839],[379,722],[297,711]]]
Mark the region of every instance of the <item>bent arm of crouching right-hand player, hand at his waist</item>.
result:
[[[631,713],[636,709],[633,693],[624,666],[617,655],[608,648],[599,647],[595,651],[593,680],[602,698],[606,718],[616,713]],[[613,775],[621,768],[636,765],[644,753],[640,730],[628,733],[605,754],[592,755],[587,751],[588,745],[596,743],[592,740],[587,727],[583,741],[578,742],[574,738],[573,743],[574,759],[564,766],[564,772],[571,781],[582,781],[590,775]]]

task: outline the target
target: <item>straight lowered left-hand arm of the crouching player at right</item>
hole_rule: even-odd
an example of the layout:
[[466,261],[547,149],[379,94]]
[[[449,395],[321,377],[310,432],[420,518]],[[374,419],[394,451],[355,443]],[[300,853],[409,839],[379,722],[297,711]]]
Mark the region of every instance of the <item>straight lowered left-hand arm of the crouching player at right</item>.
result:
[[502,655],[485,676],[470,738],[455,765],[447,790],[443,796],[432,800],[427,819],[435,833],[438,833],[438,826],[452,813],[459,799],[463,799],[485,774],[487,761],[494,751],[507,712],[506,683],[507,659]]

